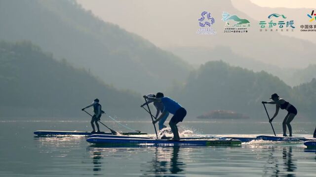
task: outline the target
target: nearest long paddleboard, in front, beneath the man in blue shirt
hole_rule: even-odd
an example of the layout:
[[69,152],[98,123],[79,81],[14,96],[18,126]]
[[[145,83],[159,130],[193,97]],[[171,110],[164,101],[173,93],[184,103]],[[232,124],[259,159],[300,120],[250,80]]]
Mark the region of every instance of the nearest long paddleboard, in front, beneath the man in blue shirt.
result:
[[155,144],[155,145],[183,145],[183,146],[239,146],[239,140],[155,140],[155,139],[126,139],[126,138],[88,138],[92,144]]

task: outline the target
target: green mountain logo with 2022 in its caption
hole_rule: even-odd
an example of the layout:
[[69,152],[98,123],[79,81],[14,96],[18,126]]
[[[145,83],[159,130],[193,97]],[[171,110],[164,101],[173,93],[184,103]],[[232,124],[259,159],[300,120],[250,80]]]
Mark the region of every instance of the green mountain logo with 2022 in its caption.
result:
[[231,15],[223,12],[222,20],[225,22],[224,33],[246,33],[250,22],[247,19],[241,19],[237,15]]

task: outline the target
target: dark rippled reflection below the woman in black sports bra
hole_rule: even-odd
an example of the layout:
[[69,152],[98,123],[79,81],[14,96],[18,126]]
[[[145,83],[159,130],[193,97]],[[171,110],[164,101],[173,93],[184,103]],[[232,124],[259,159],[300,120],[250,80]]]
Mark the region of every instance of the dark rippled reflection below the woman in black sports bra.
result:
[[[279,158],[279,150],[272,147],[268,155],[267,163],[264,166],[264,176],[271,177],[295,177],[295,171],[297,169],[296,161],[294,160],[292,147],[282,148],[282,158]],[[279,161],[282,159],[282,161]],[[283,168],[280,170],[280,168]]]

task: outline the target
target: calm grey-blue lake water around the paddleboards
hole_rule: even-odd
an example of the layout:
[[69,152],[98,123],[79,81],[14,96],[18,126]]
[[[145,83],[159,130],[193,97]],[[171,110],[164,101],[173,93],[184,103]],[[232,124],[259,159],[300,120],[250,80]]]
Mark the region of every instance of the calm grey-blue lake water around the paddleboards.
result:
[[[105,122],[115,130],[117,123]],[[154,133],[149,121],[122,122]],[[195,134],[271,134],[267,122],[191,121],[180,129]],[[102,125],[102,130],[105,131]],[[274,123],[281,133],[281,124]],[[292,123],[294,134],[314,132],[315,123]],[[36,130],[91,131],[88,121],[0,121],[1,177],[63,176],[288,176],[315,177],[316,152],[302,143],[252,142],[240,147],[95,147],[85,137],[35,137]],[[187,131],[188,132],[188,131]]]

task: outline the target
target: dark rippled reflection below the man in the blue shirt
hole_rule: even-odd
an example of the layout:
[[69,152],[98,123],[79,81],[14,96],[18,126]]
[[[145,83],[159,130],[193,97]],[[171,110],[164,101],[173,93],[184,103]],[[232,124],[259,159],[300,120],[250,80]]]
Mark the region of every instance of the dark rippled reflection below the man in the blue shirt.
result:
[[179,161],[179,146],[172,148],[156,147],[154,157],[142,166],[147,170],[141,170],[143,177],[155,174],[156,177],[184,176],[185,163]]

